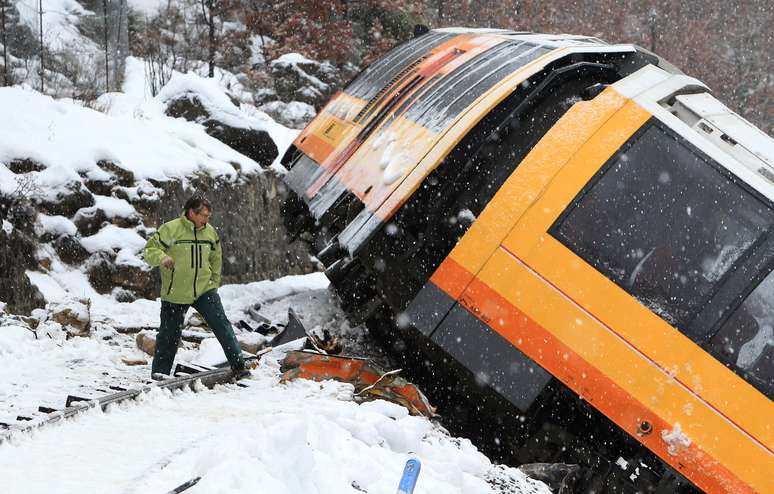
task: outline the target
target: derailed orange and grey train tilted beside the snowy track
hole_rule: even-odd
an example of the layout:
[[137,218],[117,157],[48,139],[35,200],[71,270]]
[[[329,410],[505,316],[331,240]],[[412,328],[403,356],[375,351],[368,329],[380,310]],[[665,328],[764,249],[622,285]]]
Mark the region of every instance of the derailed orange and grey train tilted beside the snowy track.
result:
[[466,396],[485,449],[581,463],[584,492],[774,492],[774,142],[700,81],[433,30],[283,164],[345,310]]

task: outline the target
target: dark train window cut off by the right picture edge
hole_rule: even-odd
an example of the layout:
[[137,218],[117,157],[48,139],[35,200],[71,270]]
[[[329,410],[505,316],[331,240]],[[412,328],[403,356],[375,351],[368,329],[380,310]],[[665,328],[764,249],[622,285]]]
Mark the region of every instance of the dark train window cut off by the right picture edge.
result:
[[774,399],[774,271],[709,341],[710,351]]

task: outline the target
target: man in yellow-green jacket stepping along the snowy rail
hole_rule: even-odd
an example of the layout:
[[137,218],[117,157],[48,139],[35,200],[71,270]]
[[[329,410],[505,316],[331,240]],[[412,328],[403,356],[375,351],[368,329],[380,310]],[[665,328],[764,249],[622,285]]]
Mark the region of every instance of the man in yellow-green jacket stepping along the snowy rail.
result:
[[223,251],[215,228],[208,224],[211,211],[206,199],[191,197],[183,214],[161,225],[145,245],[145,262],[161,269],[161,326],[151,368],[154,378],[172,371],[183,320],[191,306],[215,333],[234,375],[249,374],[218,295]]

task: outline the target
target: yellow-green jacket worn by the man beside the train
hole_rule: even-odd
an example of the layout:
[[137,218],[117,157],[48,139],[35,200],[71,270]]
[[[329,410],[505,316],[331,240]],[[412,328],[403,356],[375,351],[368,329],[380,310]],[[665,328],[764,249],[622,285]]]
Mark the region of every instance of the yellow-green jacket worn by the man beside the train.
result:
[[[166,256],[175,260],[174,269],[160,266]],[[212,225],[194,228],[183,215],[161,225],[148,239],[145,262],[161,270],[161,300],[192,304],[220,286],[223,251]]]

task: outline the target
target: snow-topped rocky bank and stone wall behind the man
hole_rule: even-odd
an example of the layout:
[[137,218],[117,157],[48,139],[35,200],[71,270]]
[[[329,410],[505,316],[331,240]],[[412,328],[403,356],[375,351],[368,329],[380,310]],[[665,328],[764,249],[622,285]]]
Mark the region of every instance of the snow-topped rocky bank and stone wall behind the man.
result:
[[280,219],[286,192],[277,162],[293,131],[246,114],[215,81],[193,75],[141,104],[129,96],[106,95],[98,103],[107,110],[97,112],[0,89],[0,104],[18,112],[0,122],[9,136],[0,146],[0,301],[8,310],[91,288],[117,301],[155,298],[145,240],[193,193],[213,204],[224,283],[314,269]]

